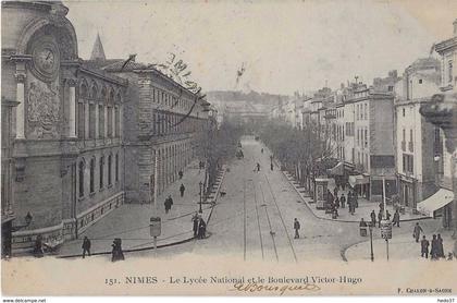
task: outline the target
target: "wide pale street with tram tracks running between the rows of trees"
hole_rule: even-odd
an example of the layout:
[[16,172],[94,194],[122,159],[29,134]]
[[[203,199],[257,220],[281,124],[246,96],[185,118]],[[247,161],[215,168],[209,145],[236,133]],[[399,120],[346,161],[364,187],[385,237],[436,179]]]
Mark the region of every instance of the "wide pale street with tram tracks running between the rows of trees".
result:
[[[222,184],[222,190],[227,194],[219,198],[211,216],[208,226],[211,237],[162,249],[159,256],[223,253],[246,260],[346,259],[346,249],[369,240],[359,235],[357,222],[317,218],[277,167],[270,171],[267,148],[262,155],[259,142],[245,138],[242,144],[245,157],[228,165],[230,172]],[[255,172],[256,162],[261,165],[260,172]],[[294,239],[294,218],[301,223],[298,240]],[[403,234],[410,238],[413,223],[403,222],[400,228],[394,229],[394,237]],[[423,220],[420,223],[425,231],[435,231],[440,222]],[[374,239],[380,238],[379,233],[379,229],[375,229]],[[391,250],[400,247],[392,245]],[[366,254],[369,255],[368,250]]]

